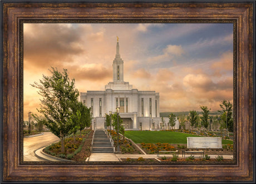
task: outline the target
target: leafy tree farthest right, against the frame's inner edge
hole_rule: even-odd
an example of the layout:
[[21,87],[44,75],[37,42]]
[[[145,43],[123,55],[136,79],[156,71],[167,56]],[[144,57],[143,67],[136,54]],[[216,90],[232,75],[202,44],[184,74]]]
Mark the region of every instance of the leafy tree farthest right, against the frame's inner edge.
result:
[[[222,115],[221,120],[225,121],[226,124],[227,124],[227,120],[228,120],[228,130],[233,132],[233,130],[234,130],[234,122],[233,122],[233,118],[232,118],[233,104],[230,103],[230,101],[228,101],[228,100],[223,100],[223,101],[221,101],[220,108],[221,108],[221,110],[219,110],[219,112],[222,114],[225,113],[225,117],[226,117],[226,119],[224,119],[224,115]],[[223,124],[224,124],[224,122],[223,122]],[[225,125],[225,126],[227,126],[227,125]]]

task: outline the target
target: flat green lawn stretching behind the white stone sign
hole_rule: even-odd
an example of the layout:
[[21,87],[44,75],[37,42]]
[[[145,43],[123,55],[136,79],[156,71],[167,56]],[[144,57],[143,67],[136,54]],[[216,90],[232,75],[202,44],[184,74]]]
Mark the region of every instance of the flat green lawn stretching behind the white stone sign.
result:
[[[170,143],[186,144],[186,137],[200,137],[173,131],[125,131],[125,136],[135,143]],[[222,140],[222,144],[233,144],[233,141]]]

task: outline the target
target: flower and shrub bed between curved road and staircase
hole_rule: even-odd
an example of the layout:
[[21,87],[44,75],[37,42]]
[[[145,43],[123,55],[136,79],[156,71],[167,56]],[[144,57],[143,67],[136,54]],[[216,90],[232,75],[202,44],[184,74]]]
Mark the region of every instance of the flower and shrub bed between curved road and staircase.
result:
[[65,152],[61,152],[61,142],[57,142],[50,146],[47,146],[43,152],[46,154],[57,156],[62,159],[68,159],[73,161],[85,161],[87,157],[90,157],[91,152],[91,140],[93,131],[85,130],[76,134],[75,141],[73,137],[65,139]]

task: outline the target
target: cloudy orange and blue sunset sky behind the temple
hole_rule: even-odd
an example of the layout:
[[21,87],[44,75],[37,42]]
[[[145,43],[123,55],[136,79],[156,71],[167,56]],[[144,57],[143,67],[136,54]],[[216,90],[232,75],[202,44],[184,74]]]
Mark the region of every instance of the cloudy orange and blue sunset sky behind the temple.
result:
[[160,93],[160,112],[218,110],[233,102],[233,24],[24,24],[24,120],[41,96],[31,85],[66,68],[80,92],[112,81],[116,36],[124,81]]

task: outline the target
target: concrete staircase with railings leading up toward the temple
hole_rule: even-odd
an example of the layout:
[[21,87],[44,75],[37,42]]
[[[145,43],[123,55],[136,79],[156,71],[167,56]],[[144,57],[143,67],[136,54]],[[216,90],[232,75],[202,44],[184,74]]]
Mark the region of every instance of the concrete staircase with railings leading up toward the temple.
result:
[[114,148],[103,129],[96,129],[92,143],[93,153],[112,153]]

